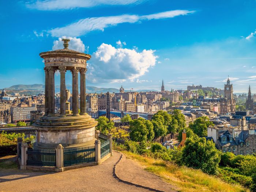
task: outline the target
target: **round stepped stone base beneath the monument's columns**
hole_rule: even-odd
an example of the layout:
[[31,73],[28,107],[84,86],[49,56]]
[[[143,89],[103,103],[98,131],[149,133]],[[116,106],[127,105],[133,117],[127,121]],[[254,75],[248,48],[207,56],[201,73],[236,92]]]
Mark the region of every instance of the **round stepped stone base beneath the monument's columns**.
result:
[[53,149],[59,144],[64,148],[92,146],[97,124],[88,114],[41,117],[33,124],[37,136],[34,149]]

